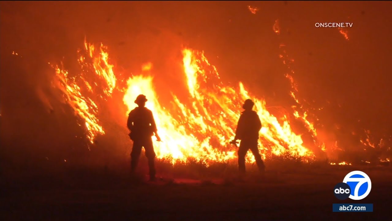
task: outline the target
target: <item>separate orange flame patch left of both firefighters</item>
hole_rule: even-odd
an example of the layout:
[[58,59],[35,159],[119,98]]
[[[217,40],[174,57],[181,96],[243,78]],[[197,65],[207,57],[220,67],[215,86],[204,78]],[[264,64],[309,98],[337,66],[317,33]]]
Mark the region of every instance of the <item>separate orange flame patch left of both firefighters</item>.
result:
[[[68,71],[56,66],[55,73],[58,80],[58,88],[64,93],[66,102],[73,108],[75,114],[83,121],[87,129],[87,138],[94,143],[97,134],[105,134],[98,120],[97,98],[110,97],[116,86],[116,76],[113,65],[109,63],[107,48],[101,44],[100,50],[95,50],[93,44],[84,42],[84,51],[80,53],[78,62],[82,73],[75,77],[69,77]],[[94,75],[88,74],[89,72]],[[90,81],[90,82],[89,82]],[[98,83],[102,87],[98,88]],[[94,88],[103,90],[103,94]],[[93,94],[94,91],[94,94]]]

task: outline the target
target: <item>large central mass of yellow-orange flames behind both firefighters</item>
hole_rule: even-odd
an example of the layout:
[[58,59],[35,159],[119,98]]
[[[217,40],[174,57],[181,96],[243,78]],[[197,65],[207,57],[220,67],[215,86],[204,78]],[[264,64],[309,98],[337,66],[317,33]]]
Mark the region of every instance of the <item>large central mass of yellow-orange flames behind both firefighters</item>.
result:
[[[301,136],[294,133],[286,116],[280,120],[265,108],[265,101],[249,94],[240,82],[238,87],[224,85],[215,68],[203,52],[183,50],[183,70],[189,93],[188,101],[175,95],[174,113],[160,105],[151,76],[134,76],[127,81],[123,101],[128,112],[136,107],[134,99],[145,94],[163,142],[155,142],[158,158],[183,160],[192,157],[208,162],[226,161],[235,157],[236,147],[229,145],[240,117],[245,99],[255,103],[263,128],[260,132],[260,150],[267,155],[289,153],[293,156],[313,158],[312,151],[303,146]],[[149,73],[151,75],[151,73]],[[248,162],[254,162],[252,155]]]

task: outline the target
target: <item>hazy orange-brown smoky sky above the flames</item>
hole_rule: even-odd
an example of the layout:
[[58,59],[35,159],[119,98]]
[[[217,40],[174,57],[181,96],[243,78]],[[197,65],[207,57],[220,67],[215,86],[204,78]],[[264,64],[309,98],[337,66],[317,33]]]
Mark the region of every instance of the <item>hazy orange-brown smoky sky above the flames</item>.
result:
[[[279,44],[295,60],[299,95],[326,121],[390,133],[392,2],[1,2],[1,55],[34,62],[73,58],[83,38],[109,46],[116,67],[138,71],[151,61],[161,85],[182,45],[204,50],[225,82],[243,81],[273,105],[290,105]],[[258,7],[256,15],[247,5]],[[279,19],[281,34],[272,31]],[[346,41],[315,22],[353,22]],[[2,99],[13,75],[2,65]],[[7,75],[7,77],[5,77]],[[34,73],[25,84],[40,84]],[[23,81],[23,80],[22,80]],[[158,85],[159,87],[159,85]],[[163,86],[162,86],[163,87]],[[327,100],[330,101],[328,106]],[[341,108],[338,107],[341,105]],[[268,106],[268,104],[267,104]],[[348,131],[350,129],[347,129]],[[350,132],[349,132],[350,133]]]

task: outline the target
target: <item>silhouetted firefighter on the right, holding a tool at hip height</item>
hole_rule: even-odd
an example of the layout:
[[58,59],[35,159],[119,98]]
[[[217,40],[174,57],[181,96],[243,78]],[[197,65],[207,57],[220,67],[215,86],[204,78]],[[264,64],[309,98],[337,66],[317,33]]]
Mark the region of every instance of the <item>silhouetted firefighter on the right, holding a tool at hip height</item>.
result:
[[238,149],[238,169],[242,175],[245,174],[245,156],[249,149],[256,159],[256,164],[261,174],[264,174],[265,171],[264,162],[258,149],[261,122],[256,111],[252,110],[253,106],[254,103],[251,99],[245,100],[242,106],[244,111],[238,120],[236,136],[230,142],[231,144],[236,144],[237,140],[241,140],[240,148]]

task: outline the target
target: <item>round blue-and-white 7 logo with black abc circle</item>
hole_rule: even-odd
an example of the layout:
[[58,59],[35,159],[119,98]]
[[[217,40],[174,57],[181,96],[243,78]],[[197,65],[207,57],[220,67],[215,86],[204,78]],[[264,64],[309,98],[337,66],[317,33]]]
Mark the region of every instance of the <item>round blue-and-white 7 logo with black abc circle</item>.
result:
[[336,184],[334,195],[340,200],[347,198],[360,200],[367,197],[372,188],[372,182],[366,173],[352,171],[346,175],[343,182]]

